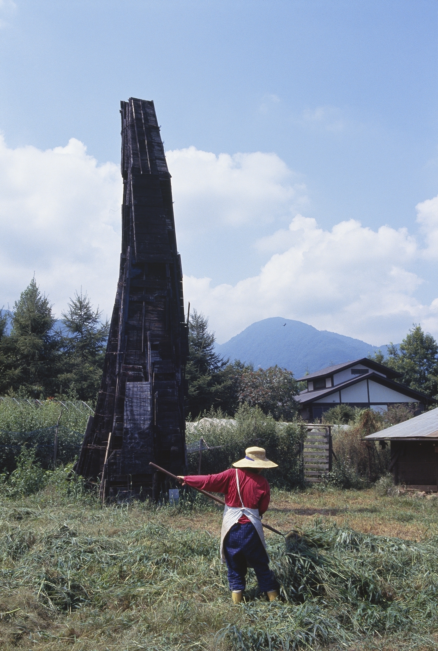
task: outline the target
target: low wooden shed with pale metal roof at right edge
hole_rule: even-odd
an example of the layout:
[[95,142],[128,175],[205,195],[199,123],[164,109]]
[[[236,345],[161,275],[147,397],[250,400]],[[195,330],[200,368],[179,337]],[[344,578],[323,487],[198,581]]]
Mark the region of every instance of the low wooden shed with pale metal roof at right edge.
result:
[[438,408],[365,439],[391,444],[389,470],[396,484],[438,492]]

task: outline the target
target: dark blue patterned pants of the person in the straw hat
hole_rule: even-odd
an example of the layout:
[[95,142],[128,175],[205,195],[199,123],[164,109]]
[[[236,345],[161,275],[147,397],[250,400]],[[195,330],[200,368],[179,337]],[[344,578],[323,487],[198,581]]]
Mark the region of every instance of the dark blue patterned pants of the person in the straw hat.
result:
[[230,590],[244,590],[248,567],[253,568],[262,592],[277,590],[278,583],[270,570],[266,550],[251,522],[233,525],[224,540]]

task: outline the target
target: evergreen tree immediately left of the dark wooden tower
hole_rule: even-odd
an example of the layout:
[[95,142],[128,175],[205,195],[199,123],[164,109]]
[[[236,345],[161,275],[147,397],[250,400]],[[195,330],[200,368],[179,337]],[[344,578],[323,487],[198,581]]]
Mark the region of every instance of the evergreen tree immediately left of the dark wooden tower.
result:
[[109,323],[101,322],[99,308],[93,309],[90,298],[76,292],[68,310],[62,313],[67,336],[62,338],[64,372],[60,384],[64,393],[79,400],[96,399],[102,377]]

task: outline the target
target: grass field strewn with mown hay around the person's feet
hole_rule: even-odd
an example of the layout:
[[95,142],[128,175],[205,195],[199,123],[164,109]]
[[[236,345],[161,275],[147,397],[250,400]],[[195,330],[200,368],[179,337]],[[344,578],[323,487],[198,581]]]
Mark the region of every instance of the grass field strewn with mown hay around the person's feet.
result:
[[437,649],[438,499],[384,492],[274,492],[266,521],[310,542],[286,558],[268,533],[287,600],[266,602],[250,570],[248,603],[237,607],[213,503],[100,508],[53,486],[3,499],[0,647]]

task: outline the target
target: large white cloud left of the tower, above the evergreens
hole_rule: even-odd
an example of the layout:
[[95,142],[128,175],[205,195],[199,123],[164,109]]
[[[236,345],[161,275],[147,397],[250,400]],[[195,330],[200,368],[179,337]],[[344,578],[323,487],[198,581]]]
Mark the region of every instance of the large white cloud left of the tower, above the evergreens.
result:
[[[120,256],[122,180],[86,147],[8,148],[0,139],[0,296],[12,305],[35,273],[58,316],[81,286],[112,309]],[[1,307],[0,304],[0,307]]]

